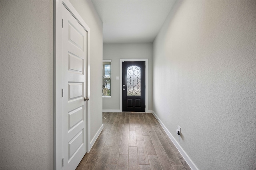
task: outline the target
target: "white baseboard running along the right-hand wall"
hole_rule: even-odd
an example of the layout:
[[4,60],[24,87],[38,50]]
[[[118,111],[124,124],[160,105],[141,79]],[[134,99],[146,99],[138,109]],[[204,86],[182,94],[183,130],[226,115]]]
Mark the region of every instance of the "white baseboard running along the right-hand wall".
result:
[[170,131],[168,131],[168,129],[166,128],[166,126],[164,125],[164,123],[159,119],[159,117],[156,115],[156,113],[154,111],[152,111],[154,117],[156,117],[156,119],[158,119],[158,122],[160,123],[160,125],[163,127],[164,131],[167,133],[168,137],[171,139],[172,143],[175,145],[175,147],[178,149],[178,151],[180,152],[180,154],[183,156],[183,158],[186,160],[186,162],[188,163],[188,165],[190,166],[190,168],[192,170],[198,170],[198,168],[196,167],[196,165],[194,164],[194,162],[190,159],[190,157],[188,156],[188,154],[186,154],[186,152],[182,149],[182,147],[180,146],[180,144],[175,140],[175,138],[172,136],[172,134],[170,133]]

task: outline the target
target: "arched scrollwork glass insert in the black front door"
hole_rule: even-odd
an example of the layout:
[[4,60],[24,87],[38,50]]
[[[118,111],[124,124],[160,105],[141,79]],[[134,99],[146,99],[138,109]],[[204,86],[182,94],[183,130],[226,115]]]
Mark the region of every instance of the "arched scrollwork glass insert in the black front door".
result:
[[140,96],[141,72],[139,66],[127,68],[127,96]]

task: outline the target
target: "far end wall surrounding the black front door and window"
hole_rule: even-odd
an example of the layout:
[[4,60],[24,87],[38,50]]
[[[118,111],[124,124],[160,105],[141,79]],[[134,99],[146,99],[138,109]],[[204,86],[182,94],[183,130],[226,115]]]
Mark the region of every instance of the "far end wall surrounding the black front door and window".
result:
[[[104,44],[103,59],[111,63],[111,98],[103,98],[103,109],[120,109],[120,59],[148,59],[148,109],[152,110],[152,43]],[[121,80],[122,81],[122,80]]]

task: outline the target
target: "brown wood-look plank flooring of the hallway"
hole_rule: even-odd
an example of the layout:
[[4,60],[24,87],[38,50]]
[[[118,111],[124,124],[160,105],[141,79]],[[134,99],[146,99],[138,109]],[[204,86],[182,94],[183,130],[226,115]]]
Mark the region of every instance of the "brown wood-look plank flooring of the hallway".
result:
[[76,170],[190,170],[152,113],[103,113],[104,129]]

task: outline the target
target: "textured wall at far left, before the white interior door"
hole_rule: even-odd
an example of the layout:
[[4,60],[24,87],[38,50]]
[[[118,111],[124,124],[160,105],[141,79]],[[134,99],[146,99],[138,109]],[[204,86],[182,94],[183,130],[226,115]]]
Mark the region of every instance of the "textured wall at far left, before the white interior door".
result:
[[53,169],[53,2],[1,0],[1,169]]

